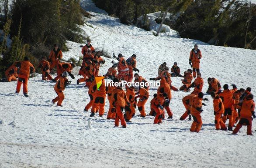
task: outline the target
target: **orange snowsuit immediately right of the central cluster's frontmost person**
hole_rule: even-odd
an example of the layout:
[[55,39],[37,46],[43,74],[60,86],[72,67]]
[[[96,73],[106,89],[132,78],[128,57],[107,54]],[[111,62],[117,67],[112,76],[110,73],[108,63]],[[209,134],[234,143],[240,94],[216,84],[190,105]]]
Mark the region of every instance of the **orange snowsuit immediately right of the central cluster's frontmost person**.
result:
[[131,118],[135,115],[135,108],[137,105],[134,89],[131,87],[128,87],[125,95],[128,98],[128,101],[130,103],[130,106],[128,106],[127,103],[125,104],[125,119],[131,120]]

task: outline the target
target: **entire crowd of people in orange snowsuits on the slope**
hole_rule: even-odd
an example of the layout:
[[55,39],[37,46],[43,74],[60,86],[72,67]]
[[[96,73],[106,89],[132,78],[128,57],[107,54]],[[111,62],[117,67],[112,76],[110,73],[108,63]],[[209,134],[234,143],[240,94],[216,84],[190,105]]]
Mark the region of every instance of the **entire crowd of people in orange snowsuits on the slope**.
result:
[[[149,87],[145,83],[148,81],[140,76],[136,67],[137,56],[133,54],[127,60],[122,54],[118,54],[117,63],[112,61],[111,66],[107,73],[101,78],[101,85],[98,87],[98,81],[95,77],[99,76],[100,65],[105,63],[105,60],[101,57],[100,51],[96,52],[93,46],[90,44],[90,40],[87,40],[87,44],[82,48],[83,63],[81,65],[79,75],[83,76],[77,80],[77,84],[85,82],[85,86],[88,87],[88,94],[90,102],[86,104],[84,111],[89,111],[91,108],[90,117],[93,117],[97,112],[102,117],[105,113],[105,99],[109,101],[109,109],[107,113],[107,119],[115,119],[115,127],[119,126],[119,120],[123,128],[126,128],[126,122],[131,122],[131,118],[135,115],[135,109],[138,107],[138,111],[142,118],[146,116],[145,104],[149,99]],[[180,117],[180,120],[185,120],[189,117],[192,120],[191,132],[199,132],[203,124],[201,118],[202,106],[206,105],[202,101],[208,101],[204,98],[202,88],[204,80],[200,73],[200,60],[202,58],[201,50],[198,49],[197,44],[194,45],[194,49],[190,52],[189,64],[192,69],[188,69],[183,75],[180,74],[180,67],[175,62],[169,73],[169,68],[166,66],[166,62],[161,64],[158,69],[158,76],[149,78],[149,80],[160,81],[160,86],[157,93],[154,94],[153,99],[150,101],[149,115],[155,116],[154,124],[161,124],[165,118],[165,110],[167,111],[168,118],[173,118],[173,111],[170,109],[170,101],[172,99],[173,91],[190,91],[194,90],[191,94],[183,97],[182,102],[186,109],[184,114]],[[74,75],[71,73],[75,65],[73,63],[60,62],[62,59],[62,51],[55,44],[51,50],[48,60],[46,57],[42,57],[42,61],[39,64],[39,68],[42,70],[42,80],[56,81],[54,90],[58,95],[52,102],[57,106],[62,106],[64,100],[63,91],[66,85],[69,84],[67,76],[69,75],[73,79]],[[57,77],[53,78],[50,74],[53,68],[57,69]],[[117,70],[116,70],[117,67]],[[17,73],[19,71],[19,73]],[[23,84],[23,93],[28,97],[28,78],[29,74],[35,72],[35,68],[29,62],[28,57],[25,57],[23,61],[15,62],[6,71],[7,81],[16,81],[17,88],[16,93],[21,90],[21,84]],[[182,86],[178,89],[172,85],[171,77],[183,77]],[[115,86],[105,87],[105,79],[111,79],[114,83],[118,83]],[[195,78],[195,79],[194,79]],[[144,83],[144,87],[128,87],[121,86],[121,81]],[[194,79],[194,81],[193,81]],[[247,134],[252,134],[252,120],[256,118],[254,114],[255,103],[253,101],[253,94],[251,94],[251,88],[237,89],[235,84],[232,84],[232,89],[229,89],[228,84],[223,86],[224,91],[221,91],[220,82],[214,78],[208,78],[208,90],[206,94],[210,94],[213,98],[213,111],[215,115],[214,123],[216,130],[229,130],[232,131],[235,124],[236,127],[233,130],[233,134],[236,134],[242,125],[247,126]],[[123,90],[126,88],[126,91]],[[137,100],[138,99],[138,100]],[[125,111],[125,114],[123,114]],[[252,118],[253,117],[253,118]],[[228,128],[225,122],[228,121]]]

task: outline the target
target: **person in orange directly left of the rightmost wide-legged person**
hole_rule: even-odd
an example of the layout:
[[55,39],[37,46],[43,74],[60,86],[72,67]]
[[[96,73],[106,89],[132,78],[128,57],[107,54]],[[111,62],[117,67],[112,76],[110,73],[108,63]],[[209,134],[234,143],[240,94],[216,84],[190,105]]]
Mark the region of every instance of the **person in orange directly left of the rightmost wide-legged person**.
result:
[[[233,94],[233,99],[235,101],[235,104],[233,105],[234,108],[234,112],[233,112],[233,124],[237,123],[239,121],[239,114],[238,112],[240,112],[239,108],[240,108],[240,97],[242,96],[242,94],[245,92],[245,90],[243,88],[235,91],[235,93]],[[239,110],[237,112],[237,110]]]

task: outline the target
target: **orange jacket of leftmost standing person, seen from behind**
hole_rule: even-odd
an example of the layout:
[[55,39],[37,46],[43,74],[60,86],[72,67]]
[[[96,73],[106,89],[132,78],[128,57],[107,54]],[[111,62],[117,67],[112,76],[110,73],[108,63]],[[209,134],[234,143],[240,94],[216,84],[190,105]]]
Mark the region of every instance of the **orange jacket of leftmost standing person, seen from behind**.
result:
[[29,77],[29,74],[35,72],[34,66],[28,61],[17,62],[15,66],[20,67],[19,75]]

